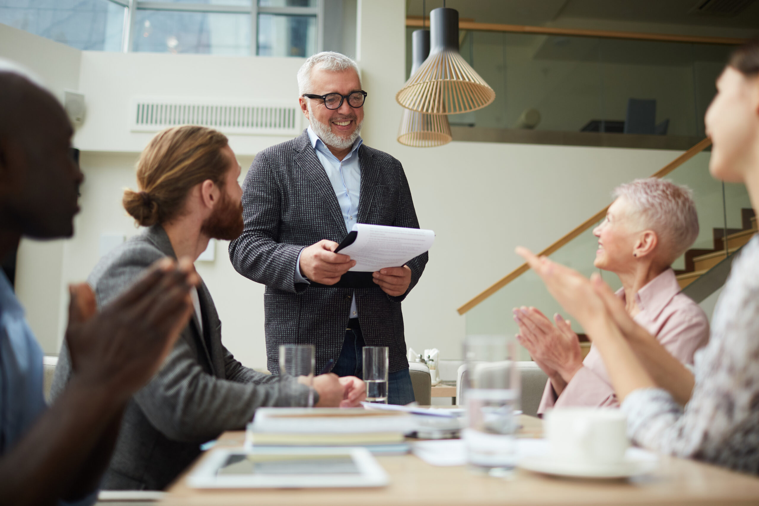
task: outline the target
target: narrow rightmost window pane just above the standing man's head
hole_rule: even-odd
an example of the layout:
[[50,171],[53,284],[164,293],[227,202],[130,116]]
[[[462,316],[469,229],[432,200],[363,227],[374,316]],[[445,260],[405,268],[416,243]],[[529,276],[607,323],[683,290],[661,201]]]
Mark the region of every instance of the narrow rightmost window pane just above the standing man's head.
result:
[[316,52],[316,16],[258,14],[258,55],[308,57]]

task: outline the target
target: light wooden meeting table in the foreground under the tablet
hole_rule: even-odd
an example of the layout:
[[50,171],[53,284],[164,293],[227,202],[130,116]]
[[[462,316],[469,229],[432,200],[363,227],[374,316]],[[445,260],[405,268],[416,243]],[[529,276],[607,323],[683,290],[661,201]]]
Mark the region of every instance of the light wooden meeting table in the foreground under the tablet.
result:
[[[540,437],[540,420],[521,416],[522,436]],[[243,432],[220,444],[241,445]],[[203,457],[200,457],[203,458]],[[203,506],[470,506],[490,504],[759,504],[759,479],[692,460],[663,457],[659,470],[629,480],[561,479],[516,470],[510,479],[471,473],[466,467],[433,467],[414,455],[377,457],[390,475],[379,489],[196,490],[184,476],[162,504]]]

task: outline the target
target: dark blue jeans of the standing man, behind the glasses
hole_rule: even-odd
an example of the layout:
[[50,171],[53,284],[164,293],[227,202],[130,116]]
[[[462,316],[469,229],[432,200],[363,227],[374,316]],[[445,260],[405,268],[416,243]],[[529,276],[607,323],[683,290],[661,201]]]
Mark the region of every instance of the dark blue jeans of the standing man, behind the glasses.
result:
[[[332,367],[337,376],[364,377],[364,335],[361,328],[345,330],[345,341],[342,341],[340,357]],[[387,404],[408,404],[414,402],[414,388],[411,385],[411,375],[408,369],[390,372],[387,376]]]

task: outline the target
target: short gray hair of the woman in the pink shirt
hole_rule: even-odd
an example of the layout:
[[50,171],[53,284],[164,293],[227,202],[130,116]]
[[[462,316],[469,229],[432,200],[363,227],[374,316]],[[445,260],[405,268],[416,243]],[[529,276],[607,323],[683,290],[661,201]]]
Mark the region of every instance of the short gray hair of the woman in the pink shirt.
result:
[[698,237],[698,214],[693,190],[658,178],[636,179],[615,188],[630,203],[633,214],[642,224],[657,233],[663,249],[674,262]]

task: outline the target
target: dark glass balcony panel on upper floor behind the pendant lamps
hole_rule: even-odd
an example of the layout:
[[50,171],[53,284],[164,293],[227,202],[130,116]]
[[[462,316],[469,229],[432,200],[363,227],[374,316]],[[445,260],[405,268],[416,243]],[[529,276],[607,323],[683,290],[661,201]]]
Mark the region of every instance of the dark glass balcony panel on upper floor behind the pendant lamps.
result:
[[459,39],[496,100],[450,115],[452,126],[694,138],[734,47],[471,30]]

